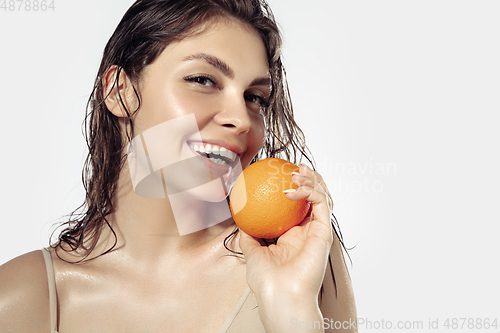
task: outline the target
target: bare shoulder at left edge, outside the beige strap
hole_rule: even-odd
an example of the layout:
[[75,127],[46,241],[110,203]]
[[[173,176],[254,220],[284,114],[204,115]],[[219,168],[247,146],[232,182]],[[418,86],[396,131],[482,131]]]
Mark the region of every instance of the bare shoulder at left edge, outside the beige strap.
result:
[[49,332],[47,270],[42,251],[33,251],[0,266],[2,332]]

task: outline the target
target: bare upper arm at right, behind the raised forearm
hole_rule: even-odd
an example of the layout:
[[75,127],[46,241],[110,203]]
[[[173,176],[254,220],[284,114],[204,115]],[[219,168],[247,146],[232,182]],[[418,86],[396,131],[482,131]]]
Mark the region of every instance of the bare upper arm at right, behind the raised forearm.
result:
[[[342,245],[335,234],[330,258],[331,262],[327,265],[323,281],[324,293],[320,302],[323,318],[330,324],[330,327],[325,325],[325,332],[357,332],[356,303],[351,277],[347,270]],[[332,276],[332,271],[334,276]]]

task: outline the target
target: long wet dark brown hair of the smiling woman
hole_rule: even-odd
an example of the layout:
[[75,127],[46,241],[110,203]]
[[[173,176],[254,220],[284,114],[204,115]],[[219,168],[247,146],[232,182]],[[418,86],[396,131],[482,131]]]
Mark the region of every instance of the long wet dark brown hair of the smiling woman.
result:
[[[130,141],[133,137],[132,118],[141,105],[136,88],[141,74],[171,42],[199,33],[203,24],[218,19],[235,19],[251,27],[260,35],[267,51],[272,81],[269,104],[264,110],[267,137],[263,148],[252,162],[266,157],[280,157],[297,163],[298,159],[305,158],[314,168],[304,135],[294,121],[281,60],[280,32],[271,9],[264,0],[139,0],[125,13],[106,44],[87,103],[84,126],[89,153],[82,175],[86,191],[85,202],[70,215],[69,221],[61,224],[60,227],[65,228],[51,247],[60,247],[67,252],[81,251],[83,258],[78,262],[83,262],[106,254],[116,246],[116,234],[106,217],[113,211],[112,199],[126,161],[124,148],[127,140]],[[122,110],[126,112],[130,125],[127,126],[126,138],[123,137],[119,118],[104,103],[107,96],[103,78],[112,66],[117,66],[114,87],[120,86],[120,73],[124,71],[138,100],[137,109],[128,110],[120,89],[117,89]],[[337,233],[335,218],[332,219],[332,224]],[[114,234],[115,243],[105,252],[88,259],[106,225]],[[342,242],[341,235],[337,235]],[[226,247],[228,239],[224,242]],[[90,240],[90,245],[86,245],[87,240]]]

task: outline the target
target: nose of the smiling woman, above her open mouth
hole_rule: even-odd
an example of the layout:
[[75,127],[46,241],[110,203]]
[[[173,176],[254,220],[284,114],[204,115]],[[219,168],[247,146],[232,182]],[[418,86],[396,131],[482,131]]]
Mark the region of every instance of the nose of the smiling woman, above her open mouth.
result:
[[252,119],[243,96],[227,98],[214,120],[217,124],[234,131],[236,134],[248,133],[252,126]]

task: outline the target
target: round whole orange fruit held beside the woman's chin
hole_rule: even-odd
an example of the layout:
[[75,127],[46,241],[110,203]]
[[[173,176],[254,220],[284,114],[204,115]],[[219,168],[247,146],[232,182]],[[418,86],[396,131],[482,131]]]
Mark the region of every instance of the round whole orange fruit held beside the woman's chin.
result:
[[292,201],[284,190],[297,188],[291,173],[299,167],[279,158],[248,166],[236,179],[229,206],[236,225],[257,238],[276,238],[304,220],[309,201]]

